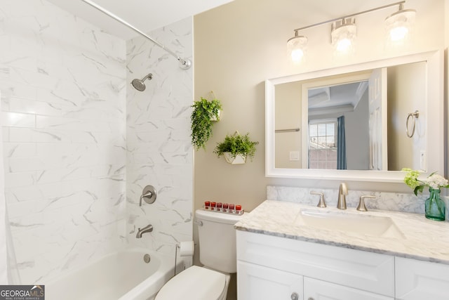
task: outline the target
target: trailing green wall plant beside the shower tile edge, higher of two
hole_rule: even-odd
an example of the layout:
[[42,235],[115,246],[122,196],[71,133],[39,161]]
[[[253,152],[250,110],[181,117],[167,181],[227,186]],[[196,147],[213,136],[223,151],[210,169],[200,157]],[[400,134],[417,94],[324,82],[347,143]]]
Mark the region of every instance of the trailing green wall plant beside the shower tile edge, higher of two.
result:
[[199,148],[206,149],[206,142],[212,136],[212,126],[214,121],[220,119],[220,110],[222,105],[220,100],[207,100],[201,97],[201,100],[195,101],[192,105],[194,110],[190,116],[192,124],[192,145],[199,150]]

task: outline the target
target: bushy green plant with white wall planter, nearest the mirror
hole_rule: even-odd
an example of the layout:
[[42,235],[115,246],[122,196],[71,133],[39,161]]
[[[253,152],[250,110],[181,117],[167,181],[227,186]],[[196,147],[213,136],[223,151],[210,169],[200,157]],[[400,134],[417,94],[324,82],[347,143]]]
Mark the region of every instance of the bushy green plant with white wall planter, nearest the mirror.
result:
[[250,141],[249,133],[241,136],[236,131],[232,136],[227,135],[225,141],[217,143],[214,153],[217,157],[224,156],[229,164],[244,164],[247,157],[253,160],[258,143]]

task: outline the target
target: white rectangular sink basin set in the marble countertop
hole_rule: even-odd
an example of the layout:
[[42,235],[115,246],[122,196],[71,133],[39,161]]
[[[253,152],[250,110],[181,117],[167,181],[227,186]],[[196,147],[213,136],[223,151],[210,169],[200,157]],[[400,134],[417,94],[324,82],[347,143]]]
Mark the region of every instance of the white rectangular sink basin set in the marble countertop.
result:
[[388,216],[372,216],[347,211],[301,209],[295,226],[309,226],[321,230],[337,230],[375,237],[405,238],[401,230]]

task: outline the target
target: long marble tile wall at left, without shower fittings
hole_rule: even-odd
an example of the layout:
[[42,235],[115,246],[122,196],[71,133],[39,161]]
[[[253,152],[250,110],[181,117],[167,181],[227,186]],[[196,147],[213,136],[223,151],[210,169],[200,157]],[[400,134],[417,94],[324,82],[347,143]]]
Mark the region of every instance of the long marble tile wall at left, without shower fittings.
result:
[[24,284],[125,238],[126,44],[44,0],[0,3],[6,201]]

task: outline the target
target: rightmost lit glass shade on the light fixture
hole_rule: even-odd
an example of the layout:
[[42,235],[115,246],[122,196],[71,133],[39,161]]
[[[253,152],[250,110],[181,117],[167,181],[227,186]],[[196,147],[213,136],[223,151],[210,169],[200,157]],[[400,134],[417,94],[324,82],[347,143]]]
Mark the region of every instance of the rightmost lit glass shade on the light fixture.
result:
[[414,9],[400,9],[385,19],[388,37],[391,41],[406,39],[413,24],[415,24],[416,11]]

